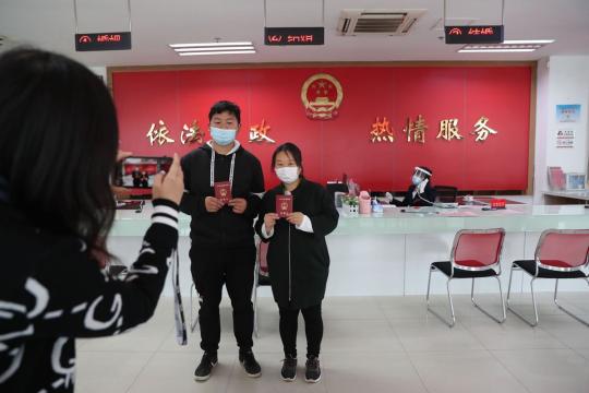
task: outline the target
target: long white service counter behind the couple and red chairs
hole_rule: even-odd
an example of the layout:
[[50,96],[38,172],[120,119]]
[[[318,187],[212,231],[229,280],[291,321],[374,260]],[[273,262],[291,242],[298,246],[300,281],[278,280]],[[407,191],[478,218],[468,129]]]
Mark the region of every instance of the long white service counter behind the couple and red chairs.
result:
[[[448,260],[454,235],[459,229],[503,227],[503,277],[506,290],[510,261],[532,259],[540,233],[549,228],[589,228],[589,209],[582,205],[507,205],[506,210],[481,211],[480,206],[454,210],[385,209],[382,214],[340,216],[337,229],[327,237],[332,259],[328,296],[387,296],[425,294],[428,269],[433,261]],[[149,226],[151,205],[143,212],[118,211],[108,245],[129,264],[136,257],[141,238]],[[180,215],[180,274],[184,296],[191,285],[190,217]],[[495,291],[494,279],[481,279],[480,291]],[[514,276],[513,290],[529,290],[522,273]],[[455,293],[469,293],[469,281],[453,282]],[[538,290],[552,290],[554,282],[537,283]],[[269,296],[262,288],[261,296]],[[589,290],[581,281],[561,282],[562,290]],[[445,291],[445,277],[432,277],[433,293]],[[171,296],[170,285],[165,295]]]

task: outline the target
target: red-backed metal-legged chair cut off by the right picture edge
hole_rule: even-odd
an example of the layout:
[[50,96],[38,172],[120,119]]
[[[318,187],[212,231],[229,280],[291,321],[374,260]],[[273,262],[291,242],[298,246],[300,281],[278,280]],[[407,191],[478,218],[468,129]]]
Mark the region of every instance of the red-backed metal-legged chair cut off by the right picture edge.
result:
[[[589,321],[575,315],[558,303],[558,279],[582,278],[589,284],[589,276],[582,270],[589,264],[589,229],[548,229],[542,233],[533,260],[514,261],[509,272],[507,288],[507,309],[530,326],[538,324],[538,306],[533,293],[533,284],[538,278],[556,279],[554,285],[554,303],[558,309],[577,321],[589,326]],[[533,320],[530,321],[509,306],[512,277],[514,271],[524,271],[531,276],[530,290],[533,306]]]

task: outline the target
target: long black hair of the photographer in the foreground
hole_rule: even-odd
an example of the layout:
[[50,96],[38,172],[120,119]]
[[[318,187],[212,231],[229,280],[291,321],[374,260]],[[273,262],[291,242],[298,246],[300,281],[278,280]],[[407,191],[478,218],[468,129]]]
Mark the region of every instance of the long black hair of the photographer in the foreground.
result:
[[28,48],[0,56],[0,176],[34,225],[106,252],[118,134],[110,94],[84,66]]

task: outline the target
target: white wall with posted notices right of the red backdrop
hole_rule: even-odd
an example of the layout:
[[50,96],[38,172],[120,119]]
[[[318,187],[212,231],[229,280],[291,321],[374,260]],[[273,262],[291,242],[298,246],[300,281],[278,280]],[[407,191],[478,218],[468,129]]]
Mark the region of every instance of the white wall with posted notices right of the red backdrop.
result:
[[[546,167],[587,172],[589,157],[589,56],[553,56],[538,62],[534,157],[534,203],[548,190]],[[558,123],[556,105],[580,104],[577,123]],[[575,147],[556,148],[558,129],[575,130]]]

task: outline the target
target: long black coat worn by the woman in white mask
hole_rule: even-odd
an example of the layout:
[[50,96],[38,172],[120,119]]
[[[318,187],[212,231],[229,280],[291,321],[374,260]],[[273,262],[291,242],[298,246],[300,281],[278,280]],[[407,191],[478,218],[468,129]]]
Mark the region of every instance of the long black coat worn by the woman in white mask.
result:
[[303,309],[318,305],[325,296],[329,273],[325,236],[336,228],[339,214],[325,188],[301,179],[292,191],[292,211],[311,219],[313,233],[280,218],[266,240],[261,233],[264,215],[276,212],[276,195],[283,193],[283,186],[265,193],[255,229],[263,241],[269,242],[267,262],[274,299],[280,307]]

